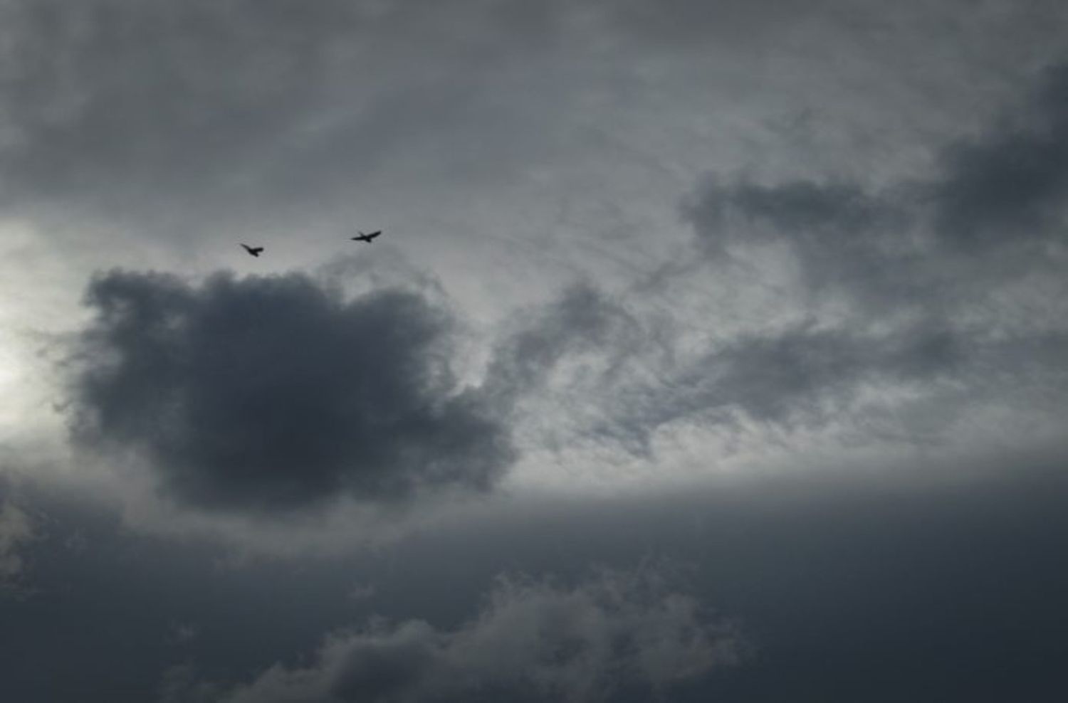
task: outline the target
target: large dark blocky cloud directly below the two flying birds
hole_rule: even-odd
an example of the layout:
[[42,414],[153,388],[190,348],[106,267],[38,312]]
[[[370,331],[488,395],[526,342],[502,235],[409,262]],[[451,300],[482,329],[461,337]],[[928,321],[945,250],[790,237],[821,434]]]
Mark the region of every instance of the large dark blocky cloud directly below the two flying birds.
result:
[[496,409],[455,387],[452,318],[418,293],[344,300],[302,274],[193,286],[112,271],[88,302],[74,436],[138,453],[183,502],[482,491],[514,457]]

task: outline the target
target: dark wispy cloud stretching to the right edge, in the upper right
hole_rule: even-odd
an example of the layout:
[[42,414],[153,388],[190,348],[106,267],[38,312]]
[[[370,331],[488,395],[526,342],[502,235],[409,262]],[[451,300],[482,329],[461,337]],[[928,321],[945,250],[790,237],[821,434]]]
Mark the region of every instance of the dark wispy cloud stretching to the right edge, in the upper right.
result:
[[[993,128],[940,149],[937,173],[926,179],[874,191],[848,179],[758,183],[710,176],[684,203],[684,217],[712,256],[731,246],[788,246],[813,287],[839,284],[838,292],[894,302],[907,285],[945,295],[953,285],[939,268],[957,274],[956,267],[988,256],[1004,263],[1006,250],[1025,245],[1037,266],[1049,252],[1035,252],[1035,243],[1065,243],[1066,135],[1068,67],[1054,65]],[[970,273],[992,276],[989,268]],[[1020,275],[1019,268],[1011,273]]]

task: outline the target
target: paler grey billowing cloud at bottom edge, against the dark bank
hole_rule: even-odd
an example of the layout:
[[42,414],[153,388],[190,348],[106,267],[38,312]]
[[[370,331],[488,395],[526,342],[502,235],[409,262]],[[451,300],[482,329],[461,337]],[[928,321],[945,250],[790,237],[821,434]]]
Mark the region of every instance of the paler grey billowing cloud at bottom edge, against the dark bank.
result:
[[276,665],[220,700],[648,700],[737,664],[743,649],[732,627],[655,574],[603,572],[574,588],[502,578],[455,629],[411,620],[335,633],[311,666]]

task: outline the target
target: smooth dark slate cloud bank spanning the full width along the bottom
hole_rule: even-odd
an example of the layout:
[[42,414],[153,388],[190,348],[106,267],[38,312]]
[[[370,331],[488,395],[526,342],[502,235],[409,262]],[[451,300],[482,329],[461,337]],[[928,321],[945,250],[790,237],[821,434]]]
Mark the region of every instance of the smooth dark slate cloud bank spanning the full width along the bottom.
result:
[[[841,472],[811,470],[817,462],[799,456],[776,476],[612,500],[517,500],[496,515],[410,534],[374,553],[226,568],[217,544],[146,537],[110,510],[88,508],[75,491],[59,500],[49,497],[54,488],[23,489],[21,509],[47,515],[48,525],[21,547],[33,592],[0,598],[4,691],[28,703],[140,703],[157,692],[170,696],[167,703],[218,703],[235,683],[266,678],[273,662],[281,690],[294,690],[308,672],[304,683],[321,686],[313,692],[326,691],[341,671],[320,654],[330,642],[339,655],[350,643],[395,643],[406,623],[423,621],[428,634],[417,641],[436,655],[445,644],[453,653],[481,652],[460,648],[459,635],[492,639],[480,623],[504,619],[483,618],[500,610],[487,596],[513,604],[509,612],[544,614],[581,606],[611,584],[587,578],[591,563],[630,574],[635,564],[669,560],[680,578],[638,566],[653,584],[632,588],[641,579],[624,579],[630,612],[671,610],[676,614],[663,612],[660,622],[687,622],[686,608],[666,607],[675,593],[696,603],[691,622],[714,633],[716,642],[740,633],[753,646],[736,651],[749,654],[739,666],[665,676],[661,700],[899,701],[932,690],[943,700],[1043,700],[1059,691],[1068,625],[1068,473],[1063,442],[1046,449],[934,462],[917,452],[910,462],[844,462]],[[75,536],[82,547],[72,548]],[[556,605],[488,589],[502,568],[559,575],[508,581]],[[375,596],[354,602],[354,577],[373,581]],[[637,622],[613,610],[618,602],[588,612],[613,613],[621,627]],[[737,618],[739,627],[724,628],[706,607]],[[374,613],[387,620],[364,625]],[[183,622],[201,628],[188,643],[171,637]],[[567,620],[581,633],[600,632],[597,622]],[[360,626],[337,629],[344,625]],[[328,632],[334,635],[325,639]],[[502,642],[531,642],[530,630],[508,632],[516,639],[500,634],[494,653]],[[560,632],[547,627],[538,641],[556,641]],[[675,641],[673,630],[663,632],[651,640]],[[571,659],[552,661],[563,672]],[[415,676],[429,683],[431,671]],[[630,683],[609,700],[655,700],[651,682]],[[489,700],[524,700],[486,692]],[[308,699],[315,700],[295,700]],[[466,690],[453,700],[478,698]]]

